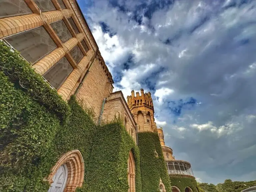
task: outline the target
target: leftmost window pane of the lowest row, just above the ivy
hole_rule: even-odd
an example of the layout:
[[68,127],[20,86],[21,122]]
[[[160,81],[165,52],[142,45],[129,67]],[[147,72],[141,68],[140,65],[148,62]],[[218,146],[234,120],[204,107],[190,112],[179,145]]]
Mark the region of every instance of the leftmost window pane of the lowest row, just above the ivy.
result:
[[72,71],[73,67],[70,65],[66,57],[63,57],[44,74],[44,78],[55,89],[58,89]]

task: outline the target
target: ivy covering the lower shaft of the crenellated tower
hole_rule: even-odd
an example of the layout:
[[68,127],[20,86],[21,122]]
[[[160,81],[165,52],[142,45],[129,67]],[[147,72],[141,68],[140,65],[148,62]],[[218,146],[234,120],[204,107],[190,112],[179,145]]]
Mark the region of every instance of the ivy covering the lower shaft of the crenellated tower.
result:
[[[159,190],[160,178],[167,192],[171,191],[170,180],[157,133],[138,133],[141,157],[142,191],[155,192]],[[155,156],[155,150],[158,157]]]

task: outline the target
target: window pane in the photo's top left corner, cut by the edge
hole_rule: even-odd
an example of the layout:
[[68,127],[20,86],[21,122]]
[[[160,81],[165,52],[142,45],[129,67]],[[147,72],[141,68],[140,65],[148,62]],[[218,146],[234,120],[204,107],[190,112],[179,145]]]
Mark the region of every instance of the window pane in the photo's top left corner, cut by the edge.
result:
[[1,0],[0,18],[30,14],[32,11],[24,0]]

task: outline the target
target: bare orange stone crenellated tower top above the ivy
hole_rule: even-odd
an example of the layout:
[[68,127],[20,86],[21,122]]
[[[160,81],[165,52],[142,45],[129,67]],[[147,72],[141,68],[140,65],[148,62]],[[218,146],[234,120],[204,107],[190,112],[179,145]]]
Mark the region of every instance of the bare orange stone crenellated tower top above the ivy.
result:
[[157,127],[154,118],[154,106],[151,93],[145,93],[140,89],[134,95],[132,90],[131,96],[127,96],[127,104],[138,126],[138,132],[157,132]]

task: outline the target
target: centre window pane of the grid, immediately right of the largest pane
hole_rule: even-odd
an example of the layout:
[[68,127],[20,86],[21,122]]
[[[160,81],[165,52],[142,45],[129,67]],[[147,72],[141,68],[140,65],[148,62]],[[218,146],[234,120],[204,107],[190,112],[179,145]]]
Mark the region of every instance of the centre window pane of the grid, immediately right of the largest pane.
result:
[[52,23],[51,26],[55,31],[55,33],[59,36],[62,43],[66,42],[72,37],[64,21],[61,20],[61,21]]

